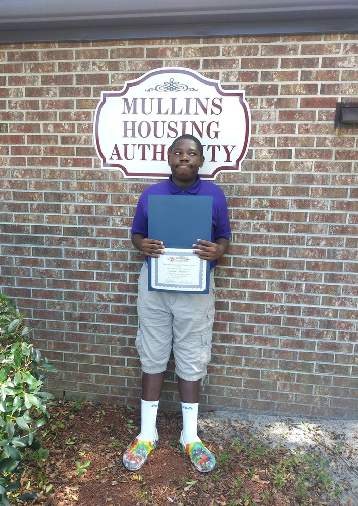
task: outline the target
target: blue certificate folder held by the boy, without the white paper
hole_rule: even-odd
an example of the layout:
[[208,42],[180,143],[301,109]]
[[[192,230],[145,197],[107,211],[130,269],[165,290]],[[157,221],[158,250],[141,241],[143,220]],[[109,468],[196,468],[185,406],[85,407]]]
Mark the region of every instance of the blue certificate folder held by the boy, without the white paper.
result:
[[[198,239],[211,241],[213,197],[211,195],[148,195],[148,237],[163,241],[166,248],[193,249]],[[157,259],[148,257],[148,289],[151,285],[152,263]],[[195,288],[185,293],[209,293],[210,262],[206,264],[206,290]]]

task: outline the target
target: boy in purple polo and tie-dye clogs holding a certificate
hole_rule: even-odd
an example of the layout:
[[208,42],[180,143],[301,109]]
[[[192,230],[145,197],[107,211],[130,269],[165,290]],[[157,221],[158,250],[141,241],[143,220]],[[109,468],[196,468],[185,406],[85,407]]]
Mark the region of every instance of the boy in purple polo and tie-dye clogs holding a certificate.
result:
[[[123,463],[136,471],[158,444],[156,417],[164,372],[171,350],[182,402],[183,431],[179,448],[200,472],[211,471],[214,455],[197,436],[200,379],[210,361],[214,322],[214,267],[229,247],[230,223],[226,198],[213,183],[198,176],[203,166],[202,145],[191,135],[174,140],[168,164],[171,176],[147,188],[141,195],[133,220],[132,242],[146,257],[159,257],[165,248],[160,237],[148,238],[148,195],[212,195],[212,237],[193,244],[201,259],[210,261],[210,293],[166,293],[149,291],[147,263],[138,280],[138,333],[136,347],[142,363],[141,431],[123,455]],[[163,209],[165,212],[165,209]],[[173,224],[175,227],[175,224]]]

